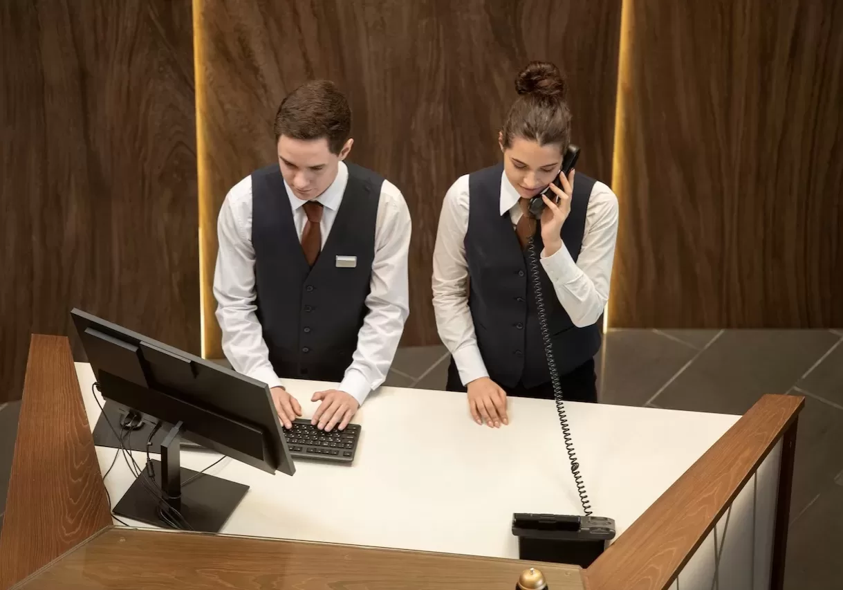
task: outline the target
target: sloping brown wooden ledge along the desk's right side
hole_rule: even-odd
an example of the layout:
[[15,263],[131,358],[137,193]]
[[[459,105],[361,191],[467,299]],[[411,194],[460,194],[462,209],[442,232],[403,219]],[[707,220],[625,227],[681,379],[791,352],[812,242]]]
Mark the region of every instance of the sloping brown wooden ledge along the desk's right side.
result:
[[666,590],[804,404],[798,395],[756,402],[594,561],[588,588]]

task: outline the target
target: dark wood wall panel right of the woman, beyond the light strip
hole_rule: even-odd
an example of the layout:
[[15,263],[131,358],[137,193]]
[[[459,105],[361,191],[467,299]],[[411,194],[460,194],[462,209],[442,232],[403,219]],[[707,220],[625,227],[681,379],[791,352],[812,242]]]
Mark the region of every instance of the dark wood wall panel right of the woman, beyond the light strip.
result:
[[843,325],[843,3],[625,6],[610,325]]

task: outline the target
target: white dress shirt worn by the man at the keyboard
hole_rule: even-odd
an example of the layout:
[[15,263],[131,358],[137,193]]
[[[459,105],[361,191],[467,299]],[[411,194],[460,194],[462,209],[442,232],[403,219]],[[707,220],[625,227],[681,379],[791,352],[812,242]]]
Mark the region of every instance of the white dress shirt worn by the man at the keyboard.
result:
[[[328,239],[348,182],[348,167],[340,162],[336,179],[316,198],[324,207],[319,229],[322,245]],[[301,240],[307,215],[305,201],[293,195],[287,182],[287,198]],[[284,198],[279,195],[279,198]],[[252,247],[252,178],[240,180],[228,191],[217,220],[219,252],[213,292],[217,298],[217,321],[223,329],[223,351],[239,373],[282,385],[269,361],[269,349],[255,315],[255,249]],[[407,315],[407,253],[410,249],[410,212],[395,185],[384,180],[375,224],[374,260],[368,313],[357,335],[357,350],[339,388],[362,404],[373,389],[384,383],[395,357]]]

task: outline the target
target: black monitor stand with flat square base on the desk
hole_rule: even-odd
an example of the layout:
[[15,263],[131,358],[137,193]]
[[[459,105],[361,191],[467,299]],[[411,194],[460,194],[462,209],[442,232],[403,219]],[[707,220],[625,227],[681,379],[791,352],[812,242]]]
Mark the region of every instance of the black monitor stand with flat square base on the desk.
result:
[[170,428],[161,442],[161,460],[148,461],[114,513],[158,527],[219,533],[249,486],[182,468],[183,426]]

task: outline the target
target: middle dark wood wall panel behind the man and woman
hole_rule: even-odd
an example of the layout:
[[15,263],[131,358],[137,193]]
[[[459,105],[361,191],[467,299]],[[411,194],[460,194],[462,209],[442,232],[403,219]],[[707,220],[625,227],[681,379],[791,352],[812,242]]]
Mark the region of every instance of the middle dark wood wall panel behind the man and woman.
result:
[[529,60],[566,71],[579,168],[609,182],[619,0],[197,0],[194,9],[208,357],[222,356],[211,291],[217,212],[232,185],[276,160],[277,106],[309,79],[346,92],[350,159],[384,174],[410,207],[407,345],[438,343],[430,279],[443,197],[459,175],[501,158],[497,131]]

